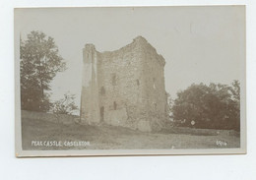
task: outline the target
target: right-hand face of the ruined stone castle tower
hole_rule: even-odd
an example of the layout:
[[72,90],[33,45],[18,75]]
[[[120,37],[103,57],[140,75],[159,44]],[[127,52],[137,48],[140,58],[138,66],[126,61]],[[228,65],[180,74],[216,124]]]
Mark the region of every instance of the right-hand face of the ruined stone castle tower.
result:
[[165,61],[149,43],[144,43],[143,52],[143,99],[146,101],[151,129],[160,130],[167,117],[163,72]]

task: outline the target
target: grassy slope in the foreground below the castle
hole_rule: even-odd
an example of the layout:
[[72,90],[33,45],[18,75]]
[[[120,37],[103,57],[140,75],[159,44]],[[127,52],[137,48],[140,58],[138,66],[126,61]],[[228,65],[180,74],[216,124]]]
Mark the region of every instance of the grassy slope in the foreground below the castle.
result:
[[[22,118],[24,150],[142,150],[239,148],[239,135],[226,130],[172,127],[158,133],[144,133],[108,125],[63,124]],[[82,147],[33,146],[32,142],[90,142]]]

